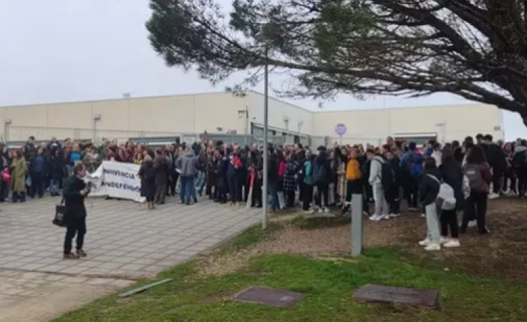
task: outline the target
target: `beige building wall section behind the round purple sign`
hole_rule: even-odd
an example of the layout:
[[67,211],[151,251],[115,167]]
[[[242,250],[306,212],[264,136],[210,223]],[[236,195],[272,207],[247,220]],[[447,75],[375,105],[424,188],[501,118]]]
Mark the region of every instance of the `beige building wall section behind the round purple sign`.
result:
[[478,133],[491,134],[495,140],[504,138],[501,111],[485,104],[317,112],[313,135],[338,140],[338,123],[347,127],[345,144],[379,144],[387,136],[436,135],[441,142],[463,140]]

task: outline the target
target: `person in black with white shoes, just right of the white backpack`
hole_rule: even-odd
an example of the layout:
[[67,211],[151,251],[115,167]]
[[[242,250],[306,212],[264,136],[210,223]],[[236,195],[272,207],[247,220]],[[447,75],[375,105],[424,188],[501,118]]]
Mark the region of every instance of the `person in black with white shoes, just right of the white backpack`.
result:
[[[452,150],[445,149],[441,152],[441,176],[443,182],[454,189],[456,209],[441,211],[441,243],[443,247],[459,247],[459,225],[457,224],[457,211],[464,207],[465,197],[463,193],[463,169],[454,158]],[[450,236],[448,239],[448,229]]]

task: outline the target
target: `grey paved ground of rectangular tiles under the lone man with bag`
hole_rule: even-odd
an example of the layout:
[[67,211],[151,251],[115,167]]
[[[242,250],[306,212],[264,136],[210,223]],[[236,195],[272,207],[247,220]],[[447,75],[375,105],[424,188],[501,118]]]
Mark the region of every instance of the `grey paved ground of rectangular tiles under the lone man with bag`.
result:
[[78,261],[62,259],[65,230],[51,223],[60,199],[0,204],[0,321],[48,321],[129,280],[155,276],[260,219],[255,209],[176,200],[155,211],[88,200],[88,257]]

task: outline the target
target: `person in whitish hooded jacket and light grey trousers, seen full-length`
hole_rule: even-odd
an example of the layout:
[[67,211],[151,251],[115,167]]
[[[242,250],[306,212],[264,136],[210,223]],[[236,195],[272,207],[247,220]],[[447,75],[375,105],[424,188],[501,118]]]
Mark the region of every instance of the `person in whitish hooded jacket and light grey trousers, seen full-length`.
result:
[[372,185],[373,200],[375,201],[375,214],[370,217],[370,220],[374,221],[390,218],[388,216],[388,202],[386,202],[384,197],[384,188],[382,186],[382,165],[385,162],[382,154],[384,154],[385,150],[386,147],[382,147],[381,153],[375,154],[370,166],[368,182]]

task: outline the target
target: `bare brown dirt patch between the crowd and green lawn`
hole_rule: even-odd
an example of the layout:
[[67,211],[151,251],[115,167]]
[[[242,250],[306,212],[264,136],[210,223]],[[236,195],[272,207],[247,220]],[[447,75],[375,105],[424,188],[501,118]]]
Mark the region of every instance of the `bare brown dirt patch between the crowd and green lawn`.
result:
[[[285,216],[290,221],[294,214]],[[282,216],[281,222],[287,223]],[[461,221],[461,215],[458,216]],[[478,275],[499,274],[502,277],[521,279],[527,277],[527,202],[517,199],[489,201],[487,227],[490,236],[479,236],[476,228],[469,228],[460,237],[461,248],[443,249],[440,252],[425,252],[417,245],[426,234],[425,218],[420,212],[407,212],[399,218],[371,222],[364,218],[364,246],[402,249],[401,257],[426,266],[448,263],[448,271]],[[275,217],[276,220],[276,217]],[[292,253],[323,259],[320,254],[347,255],[351,250],[351,227],[337,227],[324,223],[321,228],[303,230],[285,225],[272,238],[252,248],[221,257],[208,257],[201,266],[205,275],[221,276],[233,273],[248,264],[249,260],[267,253]],[[330,257],[331,258],[331,257]],[[325,259],[332,260],[332,259]]]

